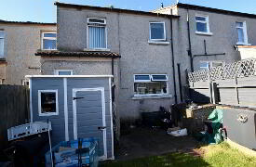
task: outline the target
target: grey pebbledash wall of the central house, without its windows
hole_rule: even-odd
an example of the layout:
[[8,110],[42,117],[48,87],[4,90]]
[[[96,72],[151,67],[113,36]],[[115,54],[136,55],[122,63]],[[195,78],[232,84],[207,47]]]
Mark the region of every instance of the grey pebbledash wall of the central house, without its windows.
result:
[[[57,5],[58,6],[58,5]],[[160,106],[174,104],[174,89],[170,45],[170,17],[109,9],[58,6],[58,50],[82,51],[87,48],[87,19],[104,18],[107,28],[107,47],[118,53],[115,59],[116,106],[121,119],[136,119],[141,112],[155,111]],[[178,17],[173,21],[174,48],[178,48]],[[149,22],[165,22],[168,44],[149,43]],[[178,50],[174,50],[178,56]],[[74,74],[111,74],[111,60],[107,58],[51,58],[41,57],[43,74],[53,74],[59,68],[71,69]],[[134,96],[134,74],[168,74],[168,96]],[[177,91],[179,99],[179,91]]]

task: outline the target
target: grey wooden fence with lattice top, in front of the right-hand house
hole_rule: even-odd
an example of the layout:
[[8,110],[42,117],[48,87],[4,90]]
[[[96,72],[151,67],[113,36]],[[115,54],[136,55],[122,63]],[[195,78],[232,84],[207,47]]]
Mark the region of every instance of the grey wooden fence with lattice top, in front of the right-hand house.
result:
[[190,73],[191,99],[197,103],[215,103],[256,107],[256,59],[246,59],[209,71]]

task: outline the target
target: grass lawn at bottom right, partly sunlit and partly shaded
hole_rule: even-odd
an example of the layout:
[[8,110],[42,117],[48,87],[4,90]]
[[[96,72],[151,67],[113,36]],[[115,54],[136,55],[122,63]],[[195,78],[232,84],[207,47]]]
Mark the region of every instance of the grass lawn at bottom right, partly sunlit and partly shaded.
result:
[[228,144],[211,145],[195,149],[195,152],[203,153],[201,156],[193,156],[185,153],[171,153],[161,156],[146,157],[132,161],[113,161],[102,164],[103,167],[255,167],[256,158],[249,157]]

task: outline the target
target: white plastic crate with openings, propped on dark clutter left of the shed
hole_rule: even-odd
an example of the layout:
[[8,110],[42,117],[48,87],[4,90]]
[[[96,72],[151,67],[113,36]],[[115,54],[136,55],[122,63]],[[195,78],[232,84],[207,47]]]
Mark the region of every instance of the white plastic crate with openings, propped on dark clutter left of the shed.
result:
[[8,141],[51,131],[51,122],[30,122],[7,129]]

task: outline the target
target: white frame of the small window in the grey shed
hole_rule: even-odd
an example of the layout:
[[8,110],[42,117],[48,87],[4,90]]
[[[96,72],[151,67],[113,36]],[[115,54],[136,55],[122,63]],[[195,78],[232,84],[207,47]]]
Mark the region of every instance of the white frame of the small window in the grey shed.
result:
[[[56,112],[42,113],[42,101],[41,94],[42,93],[55,93],[56,96]],[[54,116],[59,115],[59,100],[58,100],[58,89],[54,90],[38,90],[38,114],[39,116]]]

